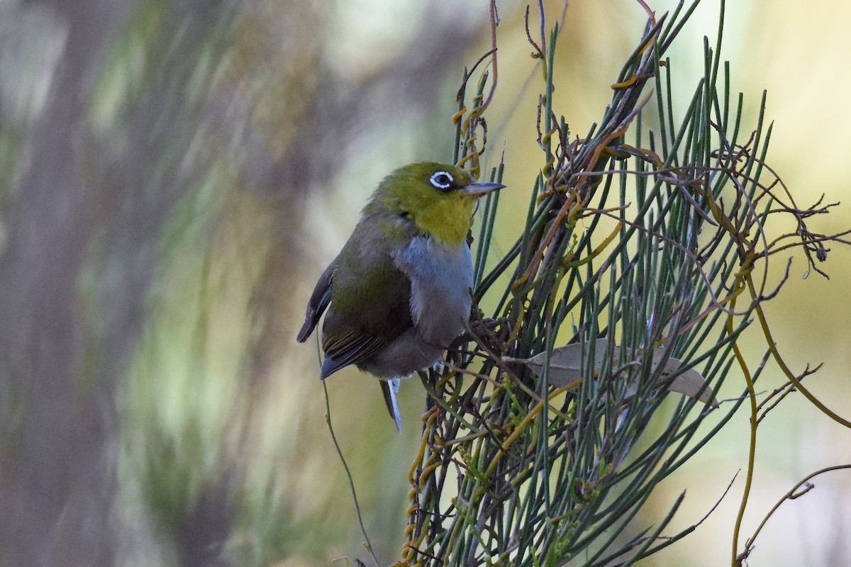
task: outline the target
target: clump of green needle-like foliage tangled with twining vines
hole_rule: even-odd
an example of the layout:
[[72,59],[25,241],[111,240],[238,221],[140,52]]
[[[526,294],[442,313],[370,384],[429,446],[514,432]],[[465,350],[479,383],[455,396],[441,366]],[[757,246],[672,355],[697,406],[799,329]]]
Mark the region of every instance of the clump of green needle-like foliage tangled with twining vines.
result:
[[[783,247],[763,226],[775,213],[797,218],[784,238],[797,238],[813,269],[831,238],[806,230],[814,209],[797,209],[765,165],[764,97],[756,126],[742,124],[742,96],[731,98],[718,55],[723,17],[688,108],[673,107],[665,51],[696,5],[651,18],[610,105],[581,138],[570,139],[552,105],[558,26],[546,42],[529,33],[544,71],[540,175],[503,258],[488,250],[499,194],[483,203],[475,298],[494,306],[492,316],[479,312],[443,371],[422,373],[431,409],[411,469],[406,563],[627,565],[694,530],[667,529],[684,495],[653,524],[637,514],[753,400],[763,365],[748,371],[737,340],[774,295],[761,282]],[[477,168],[489,77],[471,110],[469,78],[455,158]],[[556,387],[549,361],[569,343],[582,345],[580,379]],[[602,365],[597,349],[606,350]],[[540,354],[539,371],[523,362]],[[654,354],[680,361],[679,370],[665,374]],[[717,399],[734,366],[747,383],[717,409],[666,391],[694,369]]]

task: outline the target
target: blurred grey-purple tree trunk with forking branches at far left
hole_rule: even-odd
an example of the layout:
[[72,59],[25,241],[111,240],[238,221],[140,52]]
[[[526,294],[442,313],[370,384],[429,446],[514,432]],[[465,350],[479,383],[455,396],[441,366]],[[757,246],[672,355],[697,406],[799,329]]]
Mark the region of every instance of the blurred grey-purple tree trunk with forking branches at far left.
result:
[[[48,9],[67,35],[4,215],[2,564],[113,564],[117,386],[144,323],[157,238],[194,172],[177,173],[196,115],[191,102],[173,95],[195,70],[192,55],[216,8],[187,0],[163,10],[174,17],[163,19],[152,44],[164,53],[180,37],[171,44],[177,55],[146,54],[155,65],[125,117],[125,150],[116,153],[109,136],[91,132],[89,111],[108,50],[137,6],[85,0],[22,7]],[[152,128],[157,119],[166,127]],[[81,292],[84,270],[93,274],[97,304]]]

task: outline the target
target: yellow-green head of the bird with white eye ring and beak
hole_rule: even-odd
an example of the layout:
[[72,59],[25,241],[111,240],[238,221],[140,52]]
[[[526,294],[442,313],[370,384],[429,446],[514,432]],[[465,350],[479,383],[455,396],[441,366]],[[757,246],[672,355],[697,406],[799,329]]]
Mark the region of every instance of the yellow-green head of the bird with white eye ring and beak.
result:
[[381,181],[369,207],[409,218],[420,232],[457,246],[470,230],[476,200],[504,186],[478,182],[470,173],[445,163],[418,162],[398,168]]

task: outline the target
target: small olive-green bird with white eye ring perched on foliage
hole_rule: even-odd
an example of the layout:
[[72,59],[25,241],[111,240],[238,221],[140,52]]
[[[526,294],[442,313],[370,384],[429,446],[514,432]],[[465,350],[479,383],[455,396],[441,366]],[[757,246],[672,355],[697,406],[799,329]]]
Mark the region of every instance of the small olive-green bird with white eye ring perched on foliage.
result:
[[355,365],[380,378],[399,431],[401,379],[442,360],[470,320],[473,207],[504,186],[443,163],[400,167],[374,190],[313,290],[297,339],[304,343],[328,309],[319,377]]

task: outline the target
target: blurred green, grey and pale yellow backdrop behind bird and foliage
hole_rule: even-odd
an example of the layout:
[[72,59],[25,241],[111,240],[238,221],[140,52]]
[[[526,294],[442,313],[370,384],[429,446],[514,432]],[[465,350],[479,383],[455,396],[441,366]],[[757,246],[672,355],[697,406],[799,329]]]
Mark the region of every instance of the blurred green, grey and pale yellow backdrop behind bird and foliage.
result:
[[[658,14],[674,5],[648,3]],[[563,3],[545,4],[551,24]],[[685,98],[717,4],[702,3],[671,52]],[[751,120],[768,89],[768,162],[799,204],[847,200],[851,6],[729,4],[722,58]],[[525,4],[499,7],[485,158],[505,149],[509,189],[492,254],[517,236],[542,165]],[[0,0],[0,565],[366,558],[315,343],[295,332],[381,176],[451,156],[454,94],[463,66],[488,50],[487,8]],[[602,115],[645,19],[630,0],[570,4],[554,107],[574,133]],[[844,230],[851,207],[808,225]],[[830,281],[802,280],[799,255],[766,308],[792,369],[824,361],[808,384],[848,417],[851,252],[834,247],[822,267]],[[756,366],[762,346],[745,346]],[[761,391],[782,383],[775,368],[762,380]],[[416,380],[403,385],[400,435],[374,378],[342,371],[328,389],[364,523],[389,564],[424,395]],[[666,479],[643,521],[682,490],[671,532],[700,520],[746,467],[746,425],[731,422]],[[760,428],[743,537],[798,479],[841,462],[851,432],[792,395]],[[851,564],[851,475],[815,484],[769,520],[751,564]],[[643,564],[728,563],[742,486]]]

